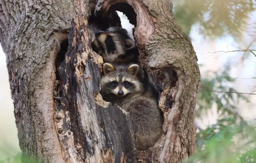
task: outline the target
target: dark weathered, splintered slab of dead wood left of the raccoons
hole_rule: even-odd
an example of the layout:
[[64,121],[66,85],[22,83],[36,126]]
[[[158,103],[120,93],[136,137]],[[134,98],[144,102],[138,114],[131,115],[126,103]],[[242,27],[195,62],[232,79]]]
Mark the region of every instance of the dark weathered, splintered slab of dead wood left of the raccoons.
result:
[[73,163],[134,163],[130,115],[99,94],[102,58],[87,46],[86,25],[84,17],[73,19],[72,43],[58,68],[56,122],[63,156]]

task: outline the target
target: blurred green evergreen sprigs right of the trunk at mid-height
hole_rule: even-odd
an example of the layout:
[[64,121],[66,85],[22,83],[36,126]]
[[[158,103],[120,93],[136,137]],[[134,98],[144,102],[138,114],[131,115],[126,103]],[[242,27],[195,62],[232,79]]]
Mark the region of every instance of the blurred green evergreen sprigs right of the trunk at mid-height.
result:
[[237,104],[239,100],[249,101],[243,94],[236,94],[235,88],[230,86],[232,82],[235,82],[235,78],[229,75],[229,71],[229,66],[217,72],[208,71],[207,73],[212,74],[212,77],[201,79],[201,87],[197,96],[197,118],[212,109],[213,103],[216,103],[220,116],[242,119],[237,112]]

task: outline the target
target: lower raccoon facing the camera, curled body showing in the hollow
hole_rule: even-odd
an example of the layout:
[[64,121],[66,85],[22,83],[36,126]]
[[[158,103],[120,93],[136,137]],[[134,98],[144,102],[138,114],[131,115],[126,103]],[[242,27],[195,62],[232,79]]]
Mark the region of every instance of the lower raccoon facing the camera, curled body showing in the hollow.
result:
[[152,91],[145,90],[137,78],[139,66],[104,64],[101,77],[103,100],[129,112],[134,130],[135,146],[139,150],[152,147],[162,134],[163,113]]

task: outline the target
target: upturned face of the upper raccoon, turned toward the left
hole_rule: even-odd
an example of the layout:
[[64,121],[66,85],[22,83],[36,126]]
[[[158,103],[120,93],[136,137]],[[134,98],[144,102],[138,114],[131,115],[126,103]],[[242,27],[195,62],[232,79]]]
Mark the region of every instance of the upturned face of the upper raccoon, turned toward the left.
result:
[[106,31],[96,31],[95,38],[108,57],[117,58],[135,46],[127,30],[121,27],[110,27]]

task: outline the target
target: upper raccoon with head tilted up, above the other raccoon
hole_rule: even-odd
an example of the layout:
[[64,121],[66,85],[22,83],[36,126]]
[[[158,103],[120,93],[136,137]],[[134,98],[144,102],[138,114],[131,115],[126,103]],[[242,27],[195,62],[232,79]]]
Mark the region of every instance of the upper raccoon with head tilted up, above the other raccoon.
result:
[[96,31],[95,38],[104,49],[104,62],[139,63],[139,51],[124,28],[110,27],[106,31]]

